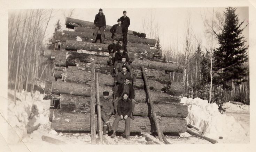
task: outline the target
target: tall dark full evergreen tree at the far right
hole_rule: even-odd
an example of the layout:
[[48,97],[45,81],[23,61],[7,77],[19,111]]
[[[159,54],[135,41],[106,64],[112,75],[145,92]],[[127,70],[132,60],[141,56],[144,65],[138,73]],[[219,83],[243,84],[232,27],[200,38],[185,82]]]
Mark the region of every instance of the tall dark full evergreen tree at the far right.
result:
[[[215,82],[222,86],[223,90],[231,90],[228,82],[239,83],[246,73],[243,66],[248,61],[245,37],[242,35],[242,24],[239,23],[236,8],[228,7],[224,12],[225,22],[222,32],[216,34],[219,47],[214,50],[214,70],[217,72]],[[247,25],[246,25],[247,26]]]

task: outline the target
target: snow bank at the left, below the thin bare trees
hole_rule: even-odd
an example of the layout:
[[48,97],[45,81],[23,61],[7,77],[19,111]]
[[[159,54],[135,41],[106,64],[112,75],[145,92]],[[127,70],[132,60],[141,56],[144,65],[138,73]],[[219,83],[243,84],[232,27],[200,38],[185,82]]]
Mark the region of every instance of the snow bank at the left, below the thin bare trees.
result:
[[[14,95],[13,90],[8,90],[8,93]],[[47,102],[42,100],[43,96],[43,94],[36,91],[32,98],[30,92],[27,92],[25,100],[25,91],[17,92],[16,97],[21,101],[16,100],[16,105],[13,99],[8,98],[8,144],[17,144],[28,136],[26,126],[28,126],[29,117],[33,117],[33,122],[29,124],[30,127],[36,126],[39,123],[42,125],[49,122],[48,114],[46,113],[49,105],[48,107],[42,106],[42,102]],[[36,105],[38,115],[34,115],[31,111],[32,105]]]

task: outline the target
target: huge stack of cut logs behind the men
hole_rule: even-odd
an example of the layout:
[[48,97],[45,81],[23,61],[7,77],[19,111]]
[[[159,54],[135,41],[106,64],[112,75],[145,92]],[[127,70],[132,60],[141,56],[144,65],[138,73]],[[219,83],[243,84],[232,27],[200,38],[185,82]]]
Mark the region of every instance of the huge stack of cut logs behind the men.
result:
[[[44,99],[51,99],[50,120],[52,128],[59,132],[89,132],[90,131],[90,80],[91,62],[96,61],[96,72],[99,72],[100,96],[103,91],[109,91],[110,98],[114,78],[113,66],[107,65],[108,49],[112,43],[110,26],[105,29],[106,44],[91,43],[93,23],[78,19],[67,18],[66,26],[75,31],[56,32],[53,43],[59,44],[59,50],[45,50],[45,57],[54,60],[53,76],[46,81]],[[77,37],[82,39],[76,41]],[[160,126],[164,133],[186,132],[187,106],[179,103],[183,93],[183,83],[170,82],[166,72],[183,72],[179,63],[160,62],[154,60],[161,57],[161,50],[153,50],[155,39],[140,38],[127,35],[127,50],[133,73],[137,78],[135,84],[136,104],[131,120],[131,132],[156,132],[152,119],[140,66],[143,65],[149,82],[152,100]],[[96,118],[95,118],[96,119]],[[113,123],[113,116],[110,122]],[[97,121],[95,121],[97,122]],[[96,124],[95,124],[96,125]],[[123,132],[124,121],[118,126]]]

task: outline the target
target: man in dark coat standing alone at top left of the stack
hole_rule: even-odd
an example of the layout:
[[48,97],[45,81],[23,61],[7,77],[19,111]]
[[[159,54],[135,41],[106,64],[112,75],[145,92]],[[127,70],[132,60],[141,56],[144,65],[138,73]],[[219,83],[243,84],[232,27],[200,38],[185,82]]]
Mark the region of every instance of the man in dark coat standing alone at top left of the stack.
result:
[[93,41],[92,43],[96,43],[96,38],[98,35],[98,31],[100,30],[101,34],[101,43],[104,43],[105,37],[104,37],[104,28],[106,28],[106,18],[105,15],[102,12],[102,9],[99,10],[99,13],[95,15],[93,26],[95,27],[94,35],[93,35]]

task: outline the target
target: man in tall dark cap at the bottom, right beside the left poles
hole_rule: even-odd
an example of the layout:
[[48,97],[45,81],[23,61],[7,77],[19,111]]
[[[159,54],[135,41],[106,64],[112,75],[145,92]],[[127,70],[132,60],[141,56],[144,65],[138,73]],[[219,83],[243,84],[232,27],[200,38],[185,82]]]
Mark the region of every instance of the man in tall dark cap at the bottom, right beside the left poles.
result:
[[108,99],[109,92],[104,91],[103,92],[103,99],[101,100],[101,119],[103,121],[103,135],[106,135],[107,128],[108,132],[112,129],[109,118],[111,117],[112,113],[114,112],[114,106],[112,101]]

